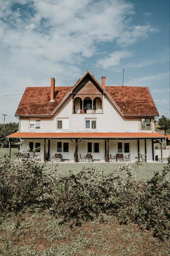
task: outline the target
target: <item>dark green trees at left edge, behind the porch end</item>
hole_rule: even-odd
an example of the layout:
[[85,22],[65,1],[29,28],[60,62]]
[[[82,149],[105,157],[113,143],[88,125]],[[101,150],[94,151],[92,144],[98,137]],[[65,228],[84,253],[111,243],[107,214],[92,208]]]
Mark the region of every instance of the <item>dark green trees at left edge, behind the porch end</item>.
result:
[[[10,123],[6,123],[5,124],[5,128],[3,128],[3,124],[0,124],[0,143],[2,143],[2,147],[4,145],[8,145],[8,139],[7,136],[12,134],[12,133],[16,133],[18,131],[18,125],[19,123],[16,122],[10,122]],[[12,140],[12,144],[16,143],[16,140]]]

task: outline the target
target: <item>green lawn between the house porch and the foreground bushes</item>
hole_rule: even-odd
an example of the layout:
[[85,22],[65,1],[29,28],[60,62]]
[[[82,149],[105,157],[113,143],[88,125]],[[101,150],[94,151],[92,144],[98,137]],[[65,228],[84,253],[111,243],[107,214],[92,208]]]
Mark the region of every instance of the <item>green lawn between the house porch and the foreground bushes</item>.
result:
[[[11,148],[11,157],[15,158],[14,153],[17,152],[17,148]],[[0,148],[0,156],[4,156],[5,154],[8,154],[8,148]],[[109,172],[114,172],[115,169],[117,169],[119,166],[124,165],[125,163],[59,163],[57,167],[57,172],[59,175],[69,174],[69,171],[73,171],[74,174],[79,172],[81,168],[88,167],[88,166],[97,166],[101,169],[105,169],[105,174]],[[131,168],[134,169],[135,164],[130,164]],[[136,172],[136,179],[141,180],[142,178],[147,180],[153,177],[154,171],[156,172],[162,172],[164,163],[143,163],[143,166],[140,166],[139,169]],[[50,168],[51,163],[46,164],[46,168]],[[135,175],[135,174],[134,174]]]

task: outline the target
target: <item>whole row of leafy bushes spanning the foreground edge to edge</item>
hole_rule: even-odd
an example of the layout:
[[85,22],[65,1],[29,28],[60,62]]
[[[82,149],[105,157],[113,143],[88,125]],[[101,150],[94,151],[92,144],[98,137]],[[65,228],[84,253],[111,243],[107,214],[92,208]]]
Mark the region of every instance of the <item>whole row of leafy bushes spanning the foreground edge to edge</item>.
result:
[[[141,156],[140,156],[141,158]],[[137,158],[135,170],[141,165]],[[57,177],[45,164],[24,160],[16,163],[0,158],[0,210],[17,211],[24,205],[41,207],[64,220],[89,219],[100,214],[116,216],[120,223],[134,222],[141,228],[154,228],[154,236],[168,238],[170,160],[162,174],[149,181],[135,181],[129,163],[105,175],[95,166]],[[56,167],[55,167],[56,171]]]

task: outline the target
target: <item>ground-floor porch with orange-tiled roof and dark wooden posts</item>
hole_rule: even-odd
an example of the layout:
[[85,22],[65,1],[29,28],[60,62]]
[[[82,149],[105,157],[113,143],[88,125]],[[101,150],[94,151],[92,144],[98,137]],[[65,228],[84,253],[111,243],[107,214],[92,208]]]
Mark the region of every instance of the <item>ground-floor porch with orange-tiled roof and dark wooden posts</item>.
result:
[[[74,162],[75,155],[77,161],[81,156],[91,154],[93,161],[105,162],[111,156],[122,154],[123,159],[129,156],[129,160],[134,162],[139,154],[145,155],[145,162],[155,160],[154,142],[159,141],[162,145],[165,136],[160,133],[110,133],[110,132],[60,132],[60,133],[38,133],[38,132],[17,132],[9,135],[9,155],[10,141],[12,138],[23,139],[24,144],[19,148],[23,152],[27,146],[40,146],[39,152],[41,160],[45,162],[46,153],[48,156],[61,154],[64,161]],[[161,158],[162,161],[162,158]]]

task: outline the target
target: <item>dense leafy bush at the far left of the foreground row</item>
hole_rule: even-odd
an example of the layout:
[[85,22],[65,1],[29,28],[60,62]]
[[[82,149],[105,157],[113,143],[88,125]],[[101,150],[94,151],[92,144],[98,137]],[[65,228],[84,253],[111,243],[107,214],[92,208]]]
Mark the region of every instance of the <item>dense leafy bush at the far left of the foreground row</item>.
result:
[[44,166],[34,161],[22,164],[0,158],[0,210],[19,210],[23,205],[36,201],[38,189],[45,182]]

